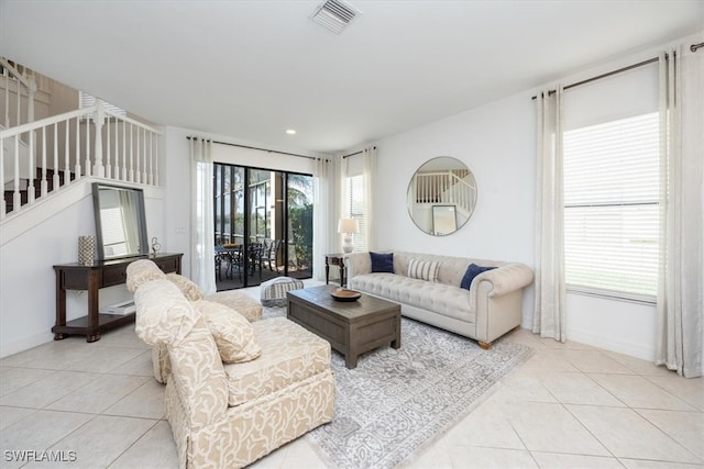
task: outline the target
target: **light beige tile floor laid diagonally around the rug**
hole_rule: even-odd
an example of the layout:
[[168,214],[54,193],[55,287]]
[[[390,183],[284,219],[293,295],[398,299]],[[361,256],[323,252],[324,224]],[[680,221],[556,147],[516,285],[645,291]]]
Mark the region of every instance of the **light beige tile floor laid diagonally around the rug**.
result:
[[[506,339],[536,351],[411,468],[704,468],[703,379],[526,330]],[[52,449],[75,451],[65,464],[72,468],[175,468],[163,393],[150,348],[132,327],[94,344],[69,337],[7,357],[0,465],[61,466],[24,464],[11,453]],[[253,467],[326,466],[299,438]]]

